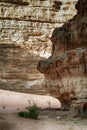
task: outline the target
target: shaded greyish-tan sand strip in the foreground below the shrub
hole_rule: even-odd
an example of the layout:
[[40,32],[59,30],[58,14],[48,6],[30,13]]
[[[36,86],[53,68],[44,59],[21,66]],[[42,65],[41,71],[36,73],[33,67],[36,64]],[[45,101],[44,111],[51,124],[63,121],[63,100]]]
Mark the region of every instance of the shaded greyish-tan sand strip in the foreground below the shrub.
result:
[[17,114],[3,114],[0,130],[87,130],[87,122],[45,117],[33,120],[18,117]]

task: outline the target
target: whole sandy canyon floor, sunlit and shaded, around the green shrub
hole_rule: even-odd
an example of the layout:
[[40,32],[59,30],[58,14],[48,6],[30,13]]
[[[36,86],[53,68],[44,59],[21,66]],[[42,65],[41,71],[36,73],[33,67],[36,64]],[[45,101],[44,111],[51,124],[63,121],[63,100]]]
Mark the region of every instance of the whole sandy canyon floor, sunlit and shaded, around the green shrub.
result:
[[[33,102],[43,108],[38,120],[19,117],[17,112]],[[61,103],[50,96],[0,90],[0,130],[87,130],[87,119],[72,118],[69,111],[55,108]]]

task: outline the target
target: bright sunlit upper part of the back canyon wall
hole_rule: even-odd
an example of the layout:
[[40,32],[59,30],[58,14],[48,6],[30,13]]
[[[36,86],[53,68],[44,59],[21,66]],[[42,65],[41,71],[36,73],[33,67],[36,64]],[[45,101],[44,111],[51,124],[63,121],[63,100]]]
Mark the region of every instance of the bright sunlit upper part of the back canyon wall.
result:
[[28,47],[41,57],[51,55],[50,36],[75,14],[77,0],[1,0],[0,43]]

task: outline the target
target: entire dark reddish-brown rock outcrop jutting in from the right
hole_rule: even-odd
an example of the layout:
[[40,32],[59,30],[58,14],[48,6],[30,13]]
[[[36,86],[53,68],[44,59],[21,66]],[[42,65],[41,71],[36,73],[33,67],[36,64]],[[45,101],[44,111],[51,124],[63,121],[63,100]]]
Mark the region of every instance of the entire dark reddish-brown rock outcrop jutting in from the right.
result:
[[76,9],[73,19],[54,29],[52,56],[40,61],[38,70],[51,95],[67,105],[83,99],[87,111],[87,0],[79,0]]

